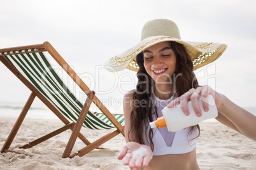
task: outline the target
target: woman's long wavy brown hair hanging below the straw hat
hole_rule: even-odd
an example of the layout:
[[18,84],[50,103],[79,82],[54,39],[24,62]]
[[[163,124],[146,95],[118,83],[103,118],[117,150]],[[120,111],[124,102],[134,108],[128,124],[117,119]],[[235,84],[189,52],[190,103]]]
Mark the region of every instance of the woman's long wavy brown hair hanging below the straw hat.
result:
[[[193,64],[183,44],[171,41],[170,46],[176,54],[176,71],[173,76],[179,74],[173,83],[173,88],[176,88],[177,96],[181,96],[189,89],[197,88],[199,84],[196,76],[192,72]],[[148,127],[148,121],[153,121],[153,114],[157,115],[157,109],[151,98],[153,91],[153,79],[146,73],[143,65],[143,52],[137,55],[136,62],[139,65],[139,70],[137,72],[138,83],[133,95],[133,102],[136,102],[136,104],[133,103],[132,105],[133,108],[130,117],[131,128],[129,129],[128,138],[130,133],[134,133],[135,135],[133,135],[136,136],[136,141],[141,144],[145,144],[145,139],[149,139],[150,141],[148,142],[153,150],[153,131],[150,129],[149,133],[147,133],[148,129],[146,128]],[[194,131],[195,128],[198,129],[200,134],[200,128],[198,125],[192,126],[190,133]]]

